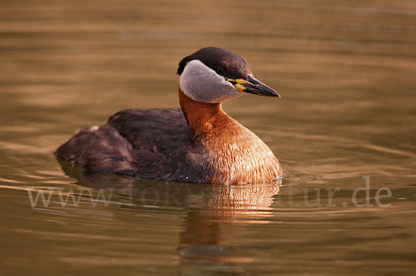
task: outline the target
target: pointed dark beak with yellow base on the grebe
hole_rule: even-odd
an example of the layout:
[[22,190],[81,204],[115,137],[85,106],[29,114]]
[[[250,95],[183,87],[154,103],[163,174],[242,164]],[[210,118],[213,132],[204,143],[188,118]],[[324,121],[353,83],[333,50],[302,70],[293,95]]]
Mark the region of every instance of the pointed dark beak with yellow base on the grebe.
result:
[[252,75],[250,75],[247,79],[228,79],[227,81],[234,85],[237,92],[280,98],[279,93],[271,89],[266,84],[261,83]]

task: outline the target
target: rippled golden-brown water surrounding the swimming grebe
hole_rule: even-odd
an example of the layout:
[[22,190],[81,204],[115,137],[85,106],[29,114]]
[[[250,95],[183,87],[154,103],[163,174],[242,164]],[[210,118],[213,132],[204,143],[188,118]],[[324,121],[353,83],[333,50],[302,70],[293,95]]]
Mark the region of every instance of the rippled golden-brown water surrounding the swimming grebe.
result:
[[[2,1],[0,20],[1,274],[415,275],[414,1]],[[85,175],[52,156],[116,111],[177,106],[177,62],[211,45],[282,95],[224,104],[281,185]]]

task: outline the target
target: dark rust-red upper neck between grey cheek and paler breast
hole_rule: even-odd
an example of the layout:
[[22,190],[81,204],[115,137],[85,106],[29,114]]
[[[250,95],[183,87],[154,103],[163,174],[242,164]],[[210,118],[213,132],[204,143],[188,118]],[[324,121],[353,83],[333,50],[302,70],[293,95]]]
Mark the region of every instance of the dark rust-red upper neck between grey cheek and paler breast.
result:
[[185,95],[180,87],[178,90],[180,107],[187,118],[192,136],[207,131],[211,127],[210,122],[213,118],[224,113],[220,103],[196,102]]

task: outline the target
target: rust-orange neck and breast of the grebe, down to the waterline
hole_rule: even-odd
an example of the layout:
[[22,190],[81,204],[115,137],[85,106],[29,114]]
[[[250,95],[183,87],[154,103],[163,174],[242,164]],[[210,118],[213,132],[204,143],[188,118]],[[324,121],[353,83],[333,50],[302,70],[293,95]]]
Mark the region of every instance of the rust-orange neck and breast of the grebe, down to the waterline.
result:
[[223,111],[221,104],[196,102],[179,88],[194,151],[187,154],[197,182],[259,183],[281,177],[272,151],[250,130]]

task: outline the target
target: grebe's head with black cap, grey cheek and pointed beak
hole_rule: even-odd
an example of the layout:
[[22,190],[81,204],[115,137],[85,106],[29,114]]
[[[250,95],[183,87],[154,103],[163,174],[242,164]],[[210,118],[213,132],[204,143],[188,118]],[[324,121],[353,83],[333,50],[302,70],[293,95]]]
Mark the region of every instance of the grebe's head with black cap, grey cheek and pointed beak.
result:
[[223,48],[206,47],[184,57],[177,75],[180,89],[197,102],[225,102],[244,94],[280,97],[253,76],[247,60]]

